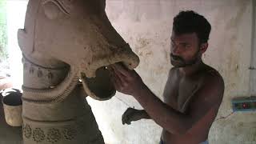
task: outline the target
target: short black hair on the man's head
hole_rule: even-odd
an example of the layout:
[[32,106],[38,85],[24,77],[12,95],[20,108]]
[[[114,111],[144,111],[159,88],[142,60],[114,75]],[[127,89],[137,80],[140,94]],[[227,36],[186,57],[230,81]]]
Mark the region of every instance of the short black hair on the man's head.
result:
[[194,32],[197,34],[200,43],[208,41],[210,29],[210,23],[206,18],[192,10],[181,11],[174,17],[174,33],[189,34]]

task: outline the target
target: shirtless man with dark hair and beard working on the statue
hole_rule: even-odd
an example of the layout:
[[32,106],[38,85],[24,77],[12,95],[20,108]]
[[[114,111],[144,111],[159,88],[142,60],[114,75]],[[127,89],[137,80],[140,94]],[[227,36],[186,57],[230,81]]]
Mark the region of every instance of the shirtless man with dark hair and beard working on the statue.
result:
[[174,66],[162,102],[142,82],[135,70],[121,64],[110,66],[115,88],[132,95],[144,108],[128,108],[122,123],[151,118],[162,126],[162,144],[208,143],[208,133],[222,102],[224,82],[217,70],[202,62],[208,47],[210,23],[194,11],[182,11],[175,18],[171,34],[170,59]]

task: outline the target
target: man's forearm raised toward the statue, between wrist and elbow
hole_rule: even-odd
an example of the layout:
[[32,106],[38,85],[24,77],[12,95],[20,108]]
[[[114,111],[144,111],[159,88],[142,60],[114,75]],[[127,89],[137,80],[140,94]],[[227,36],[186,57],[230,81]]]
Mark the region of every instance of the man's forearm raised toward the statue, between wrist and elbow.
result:
[[182,134],[189,128],[186,115],[174,110],[166,103],[157,98],[147,86],[144,86],[134,98],[146,110],[150,118],[154,119],[158,125],[168,130],[172,134]]

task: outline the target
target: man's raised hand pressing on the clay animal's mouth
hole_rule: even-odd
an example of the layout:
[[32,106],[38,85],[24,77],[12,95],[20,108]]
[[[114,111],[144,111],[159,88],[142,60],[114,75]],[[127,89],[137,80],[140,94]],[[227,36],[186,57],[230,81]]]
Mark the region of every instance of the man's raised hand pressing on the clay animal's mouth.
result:
[[135,70],[128,70],[121,63],[108,66],[108,69],[115,89],[123,94],[139,94],[146,87]]

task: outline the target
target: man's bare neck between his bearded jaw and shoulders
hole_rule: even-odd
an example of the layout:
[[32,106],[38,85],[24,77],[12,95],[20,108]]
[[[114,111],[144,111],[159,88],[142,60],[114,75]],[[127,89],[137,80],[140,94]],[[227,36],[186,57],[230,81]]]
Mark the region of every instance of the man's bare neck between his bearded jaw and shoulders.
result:
[[198,62],[195,62],[193,65],[190,66],[185,66],[185,67],[180,67],[178,70],[181,74],[188,76],[191,74],[194,74],[200,70],[200,68],[204,65],[202,62],[202,59],[200,58]]

